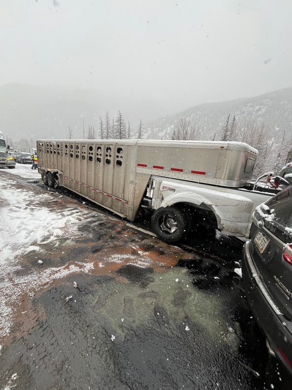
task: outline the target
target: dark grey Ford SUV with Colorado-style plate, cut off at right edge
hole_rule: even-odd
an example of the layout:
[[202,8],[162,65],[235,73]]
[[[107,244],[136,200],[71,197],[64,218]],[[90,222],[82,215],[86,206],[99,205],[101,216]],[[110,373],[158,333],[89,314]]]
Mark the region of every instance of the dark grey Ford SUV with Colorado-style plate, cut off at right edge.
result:
[[292,186],[255,209],[243,285],[270,353],[292,373]]

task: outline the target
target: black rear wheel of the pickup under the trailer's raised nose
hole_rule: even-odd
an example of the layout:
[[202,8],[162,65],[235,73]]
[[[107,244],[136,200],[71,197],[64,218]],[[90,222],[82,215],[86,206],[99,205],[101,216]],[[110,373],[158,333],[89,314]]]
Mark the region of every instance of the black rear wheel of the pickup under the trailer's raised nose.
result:
[[152,229],[162,240],[173,243],[184,237],[188,230],[188,218],[175,207],[157,209],[151,219]]

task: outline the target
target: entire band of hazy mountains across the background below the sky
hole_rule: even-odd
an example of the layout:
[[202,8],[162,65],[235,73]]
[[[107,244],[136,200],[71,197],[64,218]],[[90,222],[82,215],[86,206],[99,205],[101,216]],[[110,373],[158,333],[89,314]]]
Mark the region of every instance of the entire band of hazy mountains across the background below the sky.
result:
[[[88,125],[98,134],[99,117],[110,120],[121,111],[132,134],[139,120],[143,123],[143,138],[170,139],[179,118],[186,118],[196,128],[196,139],[220,139],[228,115],[237,121],[264,123],[279,137],[292,134],[292,87],[269,92],[250,99],[206,103],[179,113],[170,113],[161,102],[123,96],[104,96],[95,90],[39,87],[6,84],[0,87],[0,128],[8,138],[20,139],[85,138]],[[168,115],[166,115],[168,114]],[[171,115],[170,115],[171,114]]]

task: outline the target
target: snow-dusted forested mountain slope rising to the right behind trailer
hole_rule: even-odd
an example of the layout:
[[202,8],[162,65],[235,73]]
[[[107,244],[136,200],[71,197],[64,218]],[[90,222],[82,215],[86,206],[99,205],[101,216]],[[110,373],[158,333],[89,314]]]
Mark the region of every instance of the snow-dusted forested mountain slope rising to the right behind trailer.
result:
[[292,135],[292,87],[249,99],[202,104],[161,117],[148,124],[144,138],[170,139],[179,119],[186,118],[195,129],[197,139],[218,140],[229,114],[230,118],[236,117],[237,123],[264,123],[272,134]]

